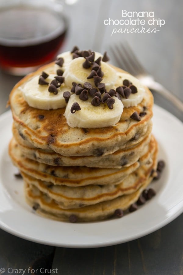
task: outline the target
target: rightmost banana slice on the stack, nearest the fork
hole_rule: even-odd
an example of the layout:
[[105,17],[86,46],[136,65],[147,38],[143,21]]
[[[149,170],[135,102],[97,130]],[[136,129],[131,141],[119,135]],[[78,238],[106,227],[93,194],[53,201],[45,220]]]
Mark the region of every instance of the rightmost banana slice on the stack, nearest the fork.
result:
[[137,93],[135,94],[130,94],[128,98],[123,98],[121,97],[121,101],[124,105],[125,108],[132,107],[138,105],[144,98],[145,94],[145,88],[144,86],[140,83],[138,79],[136,79],[134,76],[126,74],[126,73],[121,73],[117,72],[117,82],[115,83],[115,88],[116,89],[118,86],[123,86],[123,80],[128,79],[134,86],[137,87]]

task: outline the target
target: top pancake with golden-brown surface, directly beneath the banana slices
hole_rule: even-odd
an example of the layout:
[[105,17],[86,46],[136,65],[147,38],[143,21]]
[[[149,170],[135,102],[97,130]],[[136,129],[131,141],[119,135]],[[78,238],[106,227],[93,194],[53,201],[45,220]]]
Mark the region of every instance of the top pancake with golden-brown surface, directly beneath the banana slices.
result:
[[[24,77],[16,84],[9,97],[15,126],[23,139],[35,147],[51,149],[63,156],[102,156],[134,145],[144,138],[152,118],[153,106],[153,97],[148,88],[145,88],[145,97],[140,104],[124,108],[117,125],[97,129],[71,128],[63,116],[65,108],[40,110],[30,107],[23,98],[20,87],[32,77],[40,75],[43,70],[55,73],[54,63]],[[134,112],[143,112],[144,107],[147,114],[141,121],[130,118]],[[40,119],[39,115],[44,118]]]

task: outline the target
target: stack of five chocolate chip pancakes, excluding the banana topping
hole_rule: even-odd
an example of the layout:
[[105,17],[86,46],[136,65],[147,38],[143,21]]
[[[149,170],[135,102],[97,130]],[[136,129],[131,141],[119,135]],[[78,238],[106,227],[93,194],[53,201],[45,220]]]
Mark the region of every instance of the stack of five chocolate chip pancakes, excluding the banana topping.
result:
[[[22,79],[9,100],[14,120],[9,155],[23,176],[27,202],[41,215],[71,222],[102,220],[117,209],[127,210],[157,166],[151,92],[146,88],[141,103],[124,108],[115,126],[72,128],[63,116],[65,108],[40,110],[24,100],[23,86],[43,70],[54,71],[54,64]],[[130,118],[134,112],[143,113],[140,121]]]

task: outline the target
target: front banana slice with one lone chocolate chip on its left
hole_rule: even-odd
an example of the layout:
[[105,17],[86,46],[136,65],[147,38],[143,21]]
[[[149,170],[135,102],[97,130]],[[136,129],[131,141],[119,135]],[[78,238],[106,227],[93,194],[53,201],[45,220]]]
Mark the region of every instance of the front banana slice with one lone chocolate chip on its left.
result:
[[[80,128],[102,128],[115,125],[120,120],[123,104],[117,97],[113,98],[115,99],[115,103],[113,109],[110,110],[106,103],[101,103],[95,107],[91,105],[92,98],[82,101],[76,94],[71,95],[64,113],[67,124],[70,127]],[[81,110],[72,114],[70,109],[74,102],[80,105]]]

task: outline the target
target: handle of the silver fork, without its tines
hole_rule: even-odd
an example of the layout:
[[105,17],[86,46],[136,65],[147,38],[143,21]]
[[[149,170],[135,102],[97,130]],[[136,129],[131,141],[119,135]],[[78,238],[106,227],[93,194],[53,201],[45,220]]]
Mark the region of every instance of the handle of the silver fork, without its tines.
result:
[[154,90],[155,92],[159,93],[167,100],[172,102],[176,108],[178,108],[181,112],[183,112],[183,103],[180,99],[170,93],[165,87],[163,87],[160,83],[153,81],[148,85],[149,89]]

